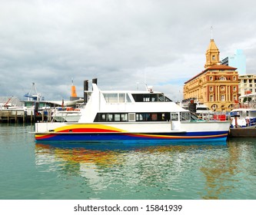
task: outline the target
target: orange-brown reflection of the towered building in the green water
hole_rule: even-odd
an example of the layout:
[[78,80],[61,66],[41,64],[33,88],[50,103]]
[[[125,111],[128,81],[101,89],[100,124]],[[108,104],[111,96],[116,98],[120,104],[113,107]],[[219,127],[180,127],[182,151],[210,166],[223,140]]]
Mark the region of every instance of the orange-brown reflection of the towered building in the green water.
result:
[[[223,155],[224,156],[224,155]],[[202,199],[221,199],[226,196],[225,193],[234,189],[237,180],[234,175],[238,174],[238,160],[240,152],[237,147],[228,147],[227,157],[219,157],[219,159],[211,159],[204,161],[204,167],[201,172],[205,177],[206,195]],[[228,162],[227,162],[228,160]]]

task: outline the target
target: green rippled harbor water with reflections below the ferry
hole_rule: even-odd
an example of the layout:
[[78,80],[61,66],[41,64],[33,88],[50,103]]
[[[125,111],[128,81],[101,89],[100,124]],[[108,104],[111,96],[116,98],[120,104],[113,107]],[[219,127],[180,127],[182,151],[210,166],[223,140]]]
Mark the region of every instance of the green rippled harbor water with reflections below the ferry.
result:
[[2,200],[255,200],[256,140],[223,144],[35,143],[0,124]]

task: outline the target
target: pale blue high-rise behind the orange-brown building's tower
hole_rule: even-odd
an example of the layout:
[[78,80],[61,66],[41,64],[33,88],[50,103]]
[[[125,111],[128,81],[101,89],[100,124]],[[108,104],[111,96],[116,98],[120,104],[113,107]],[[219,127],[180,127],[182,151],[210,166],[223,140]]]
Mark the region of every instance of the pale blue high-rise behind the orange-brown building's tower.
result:
[[234,55],[222,59],[221,64],[237,68],[239,74],[246,74],[246,57],[241,49],[237,49]]

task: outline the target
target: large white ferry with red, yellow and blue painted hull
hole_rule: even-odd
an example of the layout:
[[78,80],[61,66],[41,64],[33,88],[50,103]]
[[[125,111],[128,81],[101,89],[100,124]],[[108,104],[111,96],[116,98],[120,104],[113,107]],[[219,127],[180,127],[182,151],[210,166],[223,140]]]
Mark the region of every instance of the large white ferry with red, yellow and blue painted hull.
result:
[[[88,101],[86,102],[88,98]],[[35,124],[36,141],[226,141],[230,121],[199,120],[152,88],[85,91],[78,122]]]

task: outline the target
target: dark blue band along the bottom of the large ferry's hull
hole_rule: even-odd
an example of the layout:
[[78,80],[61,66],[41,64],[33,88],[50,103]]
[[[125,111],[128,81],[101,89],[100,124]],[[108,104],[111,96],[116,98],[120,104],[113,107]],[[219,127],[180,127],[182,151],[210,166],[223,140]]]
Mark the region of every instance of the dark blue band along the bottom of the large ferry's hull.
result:
[[[152,136],[153,135],[153,136]],[[158,136],[154,136],[158,135]],[[186,132],[186,133],[157,133],[157,134],[53,134],[38,138],[37,141],[226,141],[228,131],[208,131],[208,132]]]

